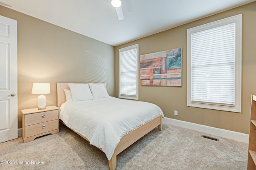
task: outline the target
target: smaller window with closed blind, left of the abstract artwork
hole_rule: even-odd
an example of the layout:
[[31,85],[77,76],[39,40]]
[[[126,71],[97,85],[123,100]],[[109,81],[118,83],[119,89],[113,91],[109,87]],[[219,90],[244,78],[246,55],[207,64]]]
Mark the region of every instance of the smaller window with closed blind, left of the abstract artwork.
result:
[[124,99],[138,100],[139,44],[119,49],[119,95]]

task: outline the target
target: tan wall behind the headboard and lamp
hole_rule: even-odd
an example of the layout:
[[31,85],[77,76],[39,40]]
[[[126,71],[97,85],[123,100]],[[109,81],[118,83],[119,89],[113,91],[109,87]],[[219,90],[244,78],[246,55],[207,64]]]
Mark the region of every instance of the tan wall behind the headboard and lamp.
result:
[[20,110],[37,107],[33,82],[50,83],[47,106],[57,105],[56,82],[106,82],[108,93],[115,95],[112,45],[3,6],[0,15],[18,21],[18,128]]

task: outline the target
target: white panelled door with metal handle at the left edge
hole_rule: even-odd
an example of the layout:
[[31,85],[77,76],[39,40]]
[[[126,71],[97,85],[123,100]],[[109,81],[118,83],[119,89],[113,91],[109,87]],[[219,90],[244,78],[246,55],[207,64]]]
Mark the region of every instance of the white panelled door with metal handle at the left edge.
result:
[[18,138],[17,21],[0,16],[0,142]]

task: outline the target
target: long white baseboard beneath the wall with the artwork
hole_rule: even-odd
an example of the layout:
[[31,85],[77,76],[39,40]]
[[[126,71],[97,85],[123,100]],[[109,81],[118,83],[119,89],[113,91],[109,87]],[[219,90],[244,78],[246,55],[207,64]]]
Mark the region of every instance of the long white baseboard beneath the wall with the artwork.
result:
[[189,128],[192,130],[212,134],[215,136],[220,136],[223,138],[229,138],[229,139],[237,140],[239,142],[249,143],[249,134],[245,134],[245,133],[235,132],[235,131],[231,131],[231,130],[225,130],[225,129],[221,129],[221,128],[209,127],[209,126],[205,126],[205,125],[180,121],[180,120],[176,120],[176,119],[170,119],[168,117],[165,117],[163,119],[163,123],[167,123],[170,125],[183,127],[183,128]]

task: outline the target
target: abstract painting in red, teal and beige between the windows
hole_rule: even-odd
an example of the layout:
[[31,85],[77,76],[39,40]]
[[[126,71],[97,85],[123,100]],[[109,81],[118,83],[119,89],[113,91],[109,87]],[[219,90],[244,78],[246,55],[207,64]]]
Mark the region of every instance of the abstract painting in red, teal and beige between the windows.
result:
[[181,86],[182,48],[140,55],[140,85]]

